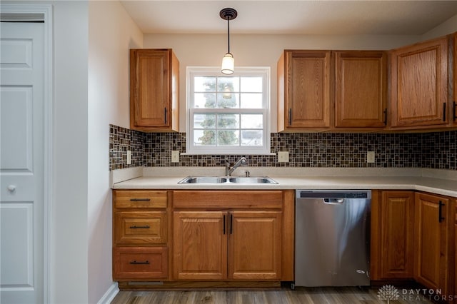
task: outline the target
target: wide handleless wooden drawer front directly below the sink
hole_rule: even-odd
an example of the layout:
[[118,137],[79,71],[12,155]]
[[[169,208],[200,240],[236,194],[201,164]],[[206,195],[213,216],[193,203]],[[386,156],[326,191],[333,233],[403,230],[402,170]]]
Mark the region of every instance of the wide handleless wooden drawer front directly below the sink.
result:
[[276,208],[283,206],[282,191],[174,191],[174,208]]

